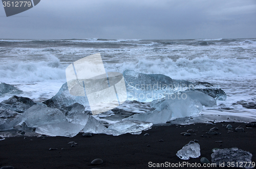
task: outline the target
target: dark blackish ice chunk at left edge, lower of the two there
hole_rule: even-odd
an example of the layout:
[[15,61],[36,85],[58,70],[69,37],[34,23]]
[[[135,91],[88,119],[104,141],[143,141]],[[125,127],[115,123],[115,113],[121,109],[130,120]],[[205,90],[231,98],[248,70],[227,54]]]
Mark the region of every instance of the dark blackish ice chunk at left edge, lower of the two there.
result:
[[8,100],[1,102],[0,107],[6,108],[12,111],[16,111],[18,113],[23,113],[25,110],[27,110],[28,108],[30,108],[35,104],[37,103],[33,102],[29,98],[13,95]]

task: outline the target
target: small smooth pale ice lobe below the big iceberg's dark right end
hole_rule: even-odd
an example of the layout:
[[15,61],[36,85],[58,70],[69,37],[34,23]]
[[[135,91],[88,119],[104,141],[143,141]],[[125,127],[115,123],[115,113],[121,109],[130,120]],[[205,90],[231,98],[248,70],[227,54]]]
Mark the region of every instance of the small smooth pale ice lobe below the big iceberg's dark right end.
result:
[[185,94],[189,95],[189,97],[193,100],[198,100],[203,106],[212,107],[216,106],[216,100],[211,96],[200,92],[200,91],[187,91],[184,92]]

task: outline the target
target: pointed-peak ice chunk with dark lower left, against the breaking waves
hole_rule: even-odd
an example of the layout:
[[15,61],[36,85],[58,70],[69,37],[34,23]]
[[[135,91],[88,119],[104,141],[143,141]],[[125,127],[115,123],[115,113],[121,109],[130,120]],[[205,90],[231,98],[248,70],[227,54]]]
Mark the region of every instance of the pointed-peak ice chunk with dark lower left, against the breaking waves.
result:
[[69,88],[67,83],[64,83],[57,94],[55,94],[51,99],[42,102],[49,107],[61,109],[61,107],[67,107],[74,103],[79,103],[84,107],[89,107],[89,102],[87,96],[74,96],[69,93]]

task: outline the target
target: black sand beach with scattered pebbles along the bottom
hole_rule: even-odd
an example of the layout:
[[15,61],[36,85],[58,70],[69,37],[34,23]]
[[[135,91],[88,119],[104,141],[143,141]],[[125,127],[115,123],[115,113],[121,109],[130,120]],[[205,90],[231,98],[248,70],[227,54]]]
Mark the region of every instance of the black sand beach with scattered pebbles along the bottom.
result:
[[[232,125],[229,131],[223,125]],[[242,126],[245,132],[236,132],[234,129]],[[206,132],[218,127],[218,135],[209,135]],[[190,136],[180,133],[188,129],[195,129]],[[145,133],[149,136],[143,136]],[[256,128],[246,128],[245,123],[223,122],[216,124],[193,124],[153,126],[140,135],[124,134],[112,136],[95,134],[92,137],[83,137],[79,133],[69,137],[9,137],[0,141],[0,166],[14,166],[15,168],[157,168],[150,167],[153,163],[182,163],[184,161],[200,163],[201,157],[211,161],[211,150],[214,148],[233,148],[249,151],[252,161],[256,161]],[[202,135],[208,135],[202,137]],[[26,138],[24,138],[26,137]],[[159,141],[159,140],[163,141]],[[181,160],[176,156],[190,140],[198,140],[201,149],[199,158]],[[75,147],[68,144],[75,141]],[[216,142],[223,141],[223,142]],[[150,146],[148,146],[150,145]],[[57,150],[49,150],[57,148]],[[91,161],[100,158],[102,164],[92,165]],[[169,167],[169,168],[189,168]],[[199,167],[198,167],[199,168]],[[203,168],[203,167],[201,167]],[[224,167],[214,167],[224,168]],[[225,167],[230,168],[230,167]]]

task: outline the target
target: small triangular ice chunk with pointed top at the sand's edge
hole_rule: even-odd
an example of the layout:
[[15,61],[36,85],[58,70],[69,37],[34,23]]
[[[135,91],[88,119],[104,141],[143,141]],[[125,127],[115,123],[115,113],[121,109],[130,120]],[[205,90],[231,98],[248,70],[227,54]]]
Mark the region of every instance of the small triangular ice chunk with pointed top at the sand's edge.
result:
[[86,126],[83,128],[84,133],[94,133],[94,134],[109,134],[112,133],[102,124],[98,122],[92,115],[89,116]]

